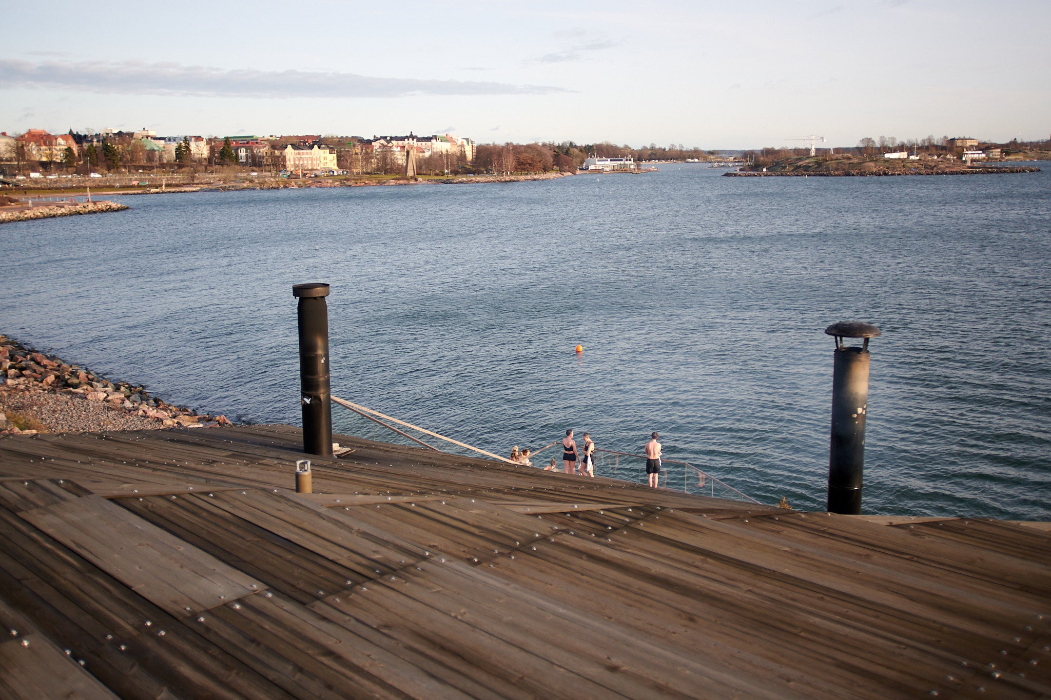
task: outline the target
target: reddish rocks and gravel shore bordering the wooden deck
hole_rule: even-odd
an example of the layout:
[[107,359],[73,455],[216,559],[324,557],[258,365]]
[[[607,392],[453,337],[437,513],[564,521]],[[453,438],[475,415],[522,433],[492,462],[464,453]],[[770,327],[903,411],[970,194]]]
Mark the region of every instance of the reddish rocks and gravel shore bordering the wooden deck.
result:
[[0,336],[0,436],[229,425]]

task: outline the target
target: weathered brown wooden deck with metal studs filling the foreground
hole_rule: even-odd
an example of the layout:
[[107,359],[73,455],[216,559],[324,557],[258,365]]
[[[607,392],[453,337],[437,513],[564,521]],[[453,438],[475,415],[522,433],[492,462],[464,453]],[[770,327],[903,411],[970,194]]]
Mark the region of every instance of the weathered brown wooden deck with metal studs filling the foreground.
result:
[[0,439],[0,697],[1051,695],[1047,530],[337,440]]

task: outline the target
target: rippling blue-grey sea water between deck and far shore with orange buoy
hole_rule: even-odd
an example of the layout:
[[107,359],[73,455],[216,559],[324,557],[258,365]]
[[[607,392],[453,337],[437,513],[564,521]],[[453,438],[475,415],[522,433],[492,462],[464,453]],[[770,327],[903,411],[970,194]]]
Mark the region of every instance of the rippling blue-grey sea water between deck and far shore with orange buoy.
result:
[[668,458],[820,509],[822,331],[866,320],[883,336],[865,510],[1048,519],[1043,165],[126,197],[0,228],[0,332],[177,403],[297,424],[290,288],[328,281],[338,396],[500,452],[569,426],[638,451],[659,430]]

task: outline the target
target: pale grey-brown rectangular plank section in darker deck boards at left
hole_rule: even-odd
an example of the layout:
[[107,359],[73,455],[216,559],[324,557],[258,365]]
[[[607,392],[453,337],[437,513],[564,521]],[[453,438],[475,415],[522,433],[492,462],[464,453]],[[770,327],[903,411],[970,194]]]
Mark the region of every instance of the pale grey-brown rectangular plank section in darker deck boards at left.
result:
[[19,515],[174,617],[262,588],[260,581],[101,496]]

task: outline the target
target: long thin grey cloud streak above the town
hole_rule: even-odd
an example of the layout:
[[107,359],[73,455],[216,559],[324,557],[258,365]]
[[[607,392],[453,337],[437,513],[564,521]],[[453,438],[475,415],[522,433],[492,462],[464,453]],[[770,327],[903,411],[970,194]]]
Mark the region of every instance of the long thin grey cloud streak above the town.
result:
[[550,85],[373,78],[347,72],[249,70],[123,61],[30,63],[0,59],[0,87],[203,98],[403,98],[419,94],[547,94]]

